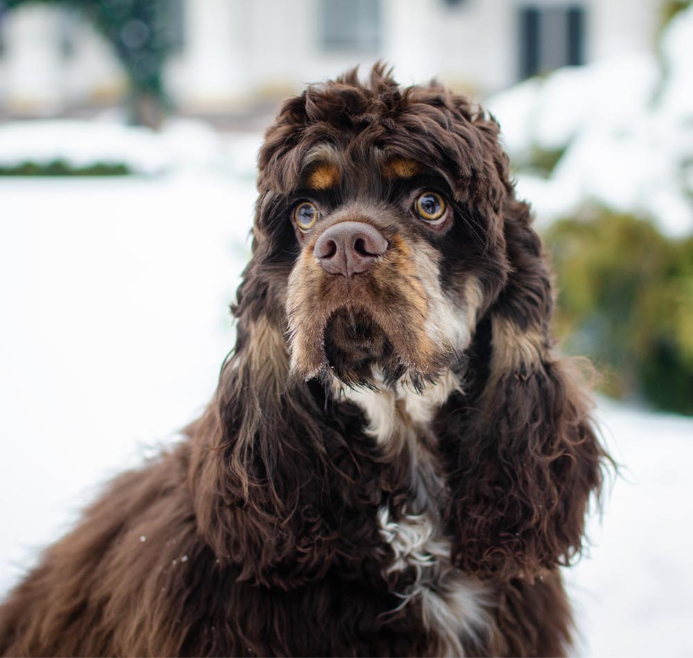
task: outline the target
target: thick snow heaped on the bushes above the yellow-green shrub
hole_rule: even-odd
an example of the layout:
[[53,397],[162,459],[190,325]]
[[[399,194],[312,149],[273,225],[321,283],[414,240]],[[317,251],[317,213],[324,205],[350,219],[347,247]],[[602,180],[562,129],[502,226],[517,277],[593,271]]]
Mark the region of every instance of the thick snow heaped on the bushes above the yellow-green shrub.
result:
[[[596,203],[693,232],[692,40],[693,6],[665,30],[661,62],[631,53],[559,69],[487,101],[539,223]],[[547,178],[523,171],[534,150],[563,152]]]

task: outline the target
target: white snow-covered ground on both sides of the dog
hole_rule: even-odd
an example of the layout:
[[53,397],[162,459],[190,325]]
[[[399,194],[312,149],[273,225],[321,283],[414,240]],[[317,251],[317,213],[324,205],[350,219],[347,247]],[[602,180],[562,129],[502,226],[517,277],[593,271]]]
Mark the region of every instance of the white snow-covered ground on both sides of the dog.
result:
[[[211,396],[254,189],[191,172],[0,180],[0,200],[5,591],[99,483],[171,440]],[[608,401],[598,415],[624,468],[602,524],[590,523],[590,556],[568,571],[581,653],[693,655],[693,419]]]

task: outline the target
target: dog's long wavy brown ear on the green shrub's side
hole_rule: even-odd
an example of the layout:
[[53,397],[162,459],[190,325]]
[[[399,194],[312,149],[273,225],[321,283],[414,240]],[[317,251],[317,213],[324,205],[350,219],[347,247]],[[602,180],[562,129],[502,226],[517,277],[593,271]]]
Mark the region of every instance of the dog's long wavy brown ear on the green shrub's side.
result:
[[471,373],[453,431],[450,521],[457,565],[532,579],[581,551],[606,456],[577,373],[552,351],[552,286],[529,208],[510,194],[502,212],[511,270],[473,345],[484,372]]

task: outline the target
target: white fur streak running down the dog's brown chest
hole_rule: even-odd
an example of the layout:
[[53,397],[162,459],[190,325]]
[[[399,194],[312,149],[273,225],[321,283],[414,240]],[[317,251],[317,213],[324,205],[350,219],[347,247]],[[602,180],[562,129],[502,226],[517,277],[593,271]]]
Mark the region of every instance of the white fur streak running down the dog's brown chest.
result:
[[465,640],[475,641],[490,624],[484,587],[450,564],[450,539],[442,528],[446,487],[431,425],[457,388],[449,373],[423,393],[385,387],[344,392],[365,413],[367,433],[385,455],[405,465],[405,505],[390,505],[384,496],[378,510],[378,531],[392,556],[383,565],[383,575],[396,582],[398,575],[408,573],[411,579],[414,574],[413,583],[409,579],[404,591],[394,593],[400,608],[421,609],[421,622],[436,638],[439,655],[463,655]]

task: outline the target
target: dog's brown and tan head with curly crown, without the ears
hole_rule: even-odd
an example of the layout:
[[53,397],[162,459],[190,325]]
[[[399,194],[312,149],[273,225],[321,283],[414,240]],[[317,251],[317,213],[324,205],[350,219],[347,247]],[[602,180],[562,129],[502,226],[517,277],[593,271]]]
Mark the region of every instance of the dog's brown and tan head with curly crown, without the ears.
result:
[[380,69],[285,103],[260,154],[253,264],[294,374],[420,388],[459,358],[507,276],[497,136],[466,99]]

